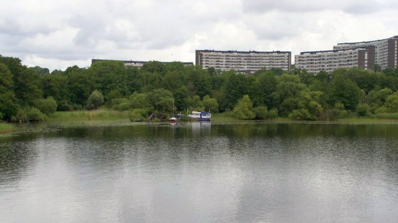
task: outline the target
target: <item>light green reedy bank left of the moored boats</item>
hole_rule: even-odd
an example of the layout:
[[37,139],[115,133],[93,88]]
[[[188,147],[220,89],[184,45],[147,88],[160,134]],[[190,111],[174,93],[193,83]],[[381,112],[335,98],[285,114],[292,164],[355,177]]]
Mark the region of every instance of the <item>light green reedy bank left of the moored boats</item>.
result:
[[48,115],[47,121],[85,121],[128,119],[131,111],[93,110],[93,111],[56,111]]

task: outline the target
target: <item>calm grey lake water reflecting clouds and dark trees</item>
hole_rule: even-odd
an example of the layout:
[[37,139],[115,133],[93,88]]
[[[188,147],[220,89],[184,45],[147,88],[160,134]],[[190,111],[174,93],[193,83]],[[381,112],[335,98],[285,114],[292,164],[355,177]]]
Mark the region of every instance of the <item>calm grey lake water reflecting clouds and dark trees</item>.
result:
[[398,125],[18,129],[0,135],[0,222],[398,220]]

